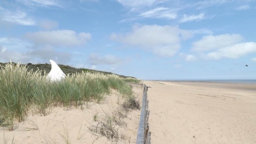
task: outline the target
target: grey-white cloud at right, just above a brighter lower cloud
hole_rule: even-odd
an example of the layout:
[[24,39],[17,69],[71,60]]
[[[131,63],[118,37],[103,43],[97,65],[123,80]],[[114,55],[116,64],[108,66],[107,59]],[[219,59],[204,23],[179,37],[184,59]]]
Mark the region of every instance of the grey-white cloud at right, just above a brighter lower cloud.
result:
[[210,51],[234,45],[242,40],[243,37],[240,34],[208,35],[194,42],[192,50],[197,52]]

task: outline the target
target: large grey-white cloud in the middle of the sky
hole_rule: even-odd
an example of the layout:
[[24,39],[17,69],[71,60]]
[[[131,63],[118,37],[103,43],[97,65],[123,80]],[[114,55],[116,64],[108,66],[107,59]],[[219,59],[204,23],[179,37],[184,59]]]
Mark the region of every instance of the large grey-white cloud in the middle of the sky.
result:
[[181,48],[182,39],[191,37],[188,30],[176,26],[143,25],[136,26],[126,34],[112,33],[112,39],[138,46],[159,56],[172,57]]

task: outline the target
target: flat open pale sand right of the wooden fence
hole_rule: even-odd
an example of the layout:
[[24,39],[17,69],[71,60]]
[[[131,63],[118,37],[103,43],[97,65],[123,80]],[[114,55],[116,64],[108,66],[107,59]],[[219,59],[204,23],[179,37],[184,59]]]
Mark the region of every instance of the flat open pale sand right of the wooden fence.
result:
[[144,83],[152,144],[256,144],[256,85]]

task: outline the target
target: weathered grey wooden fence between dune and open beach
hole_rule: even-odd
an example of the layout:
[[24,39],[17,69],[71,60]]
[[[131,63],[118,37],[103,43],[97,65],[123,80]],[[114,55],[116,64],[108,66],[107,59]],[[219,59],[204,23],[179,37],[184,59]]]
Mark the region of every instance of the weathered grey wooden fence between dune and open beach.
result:
[[138,127],[138,134],[136,144],[151,144],[150,136],[151,132],[149,131],[149,110],[148,110],[148,86],[143,85],[143,97],[142,97],[142,107],[140,113],[140,120],[139,120],[139,127]]

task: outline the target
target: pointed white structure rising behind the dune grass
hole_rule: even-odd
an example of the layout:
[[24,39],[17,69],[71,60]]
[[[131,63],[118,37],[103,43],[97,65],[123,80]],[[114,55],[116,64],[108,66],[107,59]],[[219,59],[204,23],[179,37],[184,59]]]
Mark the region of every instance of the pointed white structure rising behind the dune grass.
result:
[[54,82],[54,81],[60,81],[61,79],[64,79],[66,75],[64,72],[61,70],[61,68],[58,66],[58,64],[50,59],[52,69],[50,73],[47,75],[47,79]]

